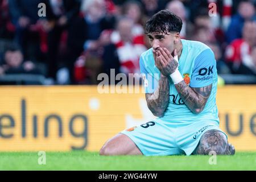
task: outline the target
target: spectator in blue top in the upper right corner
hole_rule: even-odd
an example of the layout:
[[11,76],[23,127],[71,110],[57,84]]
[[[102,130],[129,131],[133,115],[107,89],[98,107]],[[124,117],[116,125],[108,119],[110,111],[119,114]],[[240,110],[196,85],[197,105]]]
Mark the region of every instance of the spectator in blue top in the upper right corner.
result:
[[237,14],[232,16],[228,30],[226,31],[226,41],[228,43],[242,37],[243,24],[247,20],[256,20],[255,8],[251,1],[241,1],[238,5]]

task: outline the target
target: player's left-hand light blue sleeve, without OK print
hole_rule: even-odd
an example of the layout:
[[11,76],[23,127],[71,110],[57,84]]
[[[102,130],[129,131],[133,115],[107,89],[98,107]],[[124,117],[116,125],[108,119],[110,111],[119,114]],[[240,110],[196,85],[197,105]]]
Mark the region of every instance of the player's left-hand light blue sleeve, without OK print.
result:
[[154,93],[158,85],[158,80],[147,71],[142,56],[139,58],[139,67],[141,68],[145,93]]

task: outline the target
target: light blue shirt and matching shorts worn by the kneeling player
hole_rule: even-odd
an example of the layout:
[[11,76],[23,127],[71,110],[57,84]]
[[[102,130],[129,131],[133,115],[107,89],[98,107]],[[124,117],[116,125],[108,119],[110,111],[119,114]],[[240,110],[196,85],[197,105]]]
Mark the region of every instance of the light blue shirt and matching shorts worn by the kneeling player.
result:
[[[212,92],[204,110],[200,114],[193,114],[181,100],[170,78],[170,101],[164,116],[121,131],[133,140],[144,155],[191,155],[205,132],[221,131],[216,106],[217,69],[214,54],[203,43],[183,39],[181,42],[183,50],[179,71],[184,81],[193,88],[212,84]],[[153,93],[158,88],[160,71],[155,66],[152,48],[142,53],[139,63],[147,79],[145,92]]]

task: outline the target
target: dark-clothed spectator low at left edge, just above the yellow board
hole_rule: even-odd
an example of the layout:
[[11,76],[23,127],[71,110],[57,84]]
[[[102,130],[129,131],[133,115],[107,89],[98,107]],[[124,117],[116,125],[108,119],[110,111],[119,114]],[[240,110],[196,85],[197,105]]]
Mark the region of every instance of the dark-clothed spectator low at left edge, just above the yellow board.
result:
[[5,64],[1,66],[0,75],[20,73],[41,74],[32,61],[24,61],[20,49],[13,45],[5,51]]

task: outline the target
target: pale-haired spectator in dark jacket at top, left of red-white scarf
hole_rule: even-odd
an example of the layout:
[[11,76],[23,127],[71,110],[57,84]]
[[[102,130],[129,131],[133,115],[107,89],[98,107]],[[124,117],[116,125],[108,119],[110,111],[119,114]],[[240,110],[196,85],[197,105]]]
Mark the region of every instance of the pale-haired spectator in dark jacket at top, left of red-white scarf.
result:
[[[100,35],[104,30],[114,28],[115,18],[107,14],[104,0],[86,0],[81,6],[82,16],[75,19],[69,30],[68,50],[70,63],[84,55],[85,67],[92,84],[97,83],[97,75],[102,69],[102,53]],[[79,59],[80,60],[80,59]],[[75,64],[77,65],[77,64]],[[69,69],[72,71],[73,65]],[[77,70],[75,68],[75,70]],[[73,72],[73,71],[72,71]],[[75,72],[77,77],[77,73]],[[85,78],[80,78],[84,80]],[[76,81],[78,81],[76,79]]]

